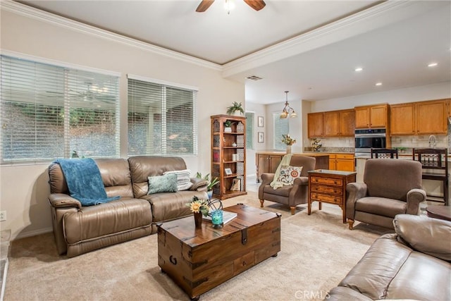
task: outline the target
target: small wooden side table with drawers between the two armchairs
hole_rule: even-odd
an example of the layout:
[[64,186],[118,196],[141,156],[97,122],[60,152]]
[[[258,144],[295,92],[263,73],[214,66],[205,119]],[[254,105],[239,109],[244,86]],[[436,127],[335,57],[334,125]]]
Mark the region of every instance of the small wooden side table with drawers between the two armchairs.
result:
[[354,171],[328,169],[309,171],[308,215],[311,214],[312,202],[319,202],[319,210],[322,209],[321,202],[336,204],[342,209],[343,223],[346,223],[346,185],[355,182],[356,174]]

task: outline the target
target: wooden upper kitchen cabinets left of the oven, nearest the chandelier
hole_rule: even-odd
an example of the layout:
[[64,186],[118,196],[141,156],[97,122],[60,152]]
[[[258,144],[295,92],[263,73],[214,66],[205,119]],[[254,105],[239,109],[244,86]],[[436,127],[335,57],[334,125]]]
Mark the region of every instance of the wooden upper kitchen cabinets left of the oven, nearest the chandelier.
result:
[[354,109],[309,113],[309,138],[354,136]]

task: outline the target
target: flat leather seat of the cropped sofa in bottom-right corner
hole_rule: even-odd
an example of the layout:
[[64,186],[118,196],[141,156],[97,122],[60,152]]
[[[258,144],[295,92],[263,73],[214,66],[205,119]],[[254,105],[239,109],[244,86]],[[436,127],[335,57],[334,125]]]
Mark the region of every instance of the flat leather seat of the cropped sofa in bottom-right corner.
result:
[[450,269],[451,264],[412,250],[390,233],[373,242],[339,286],[373,300],[450,300]]

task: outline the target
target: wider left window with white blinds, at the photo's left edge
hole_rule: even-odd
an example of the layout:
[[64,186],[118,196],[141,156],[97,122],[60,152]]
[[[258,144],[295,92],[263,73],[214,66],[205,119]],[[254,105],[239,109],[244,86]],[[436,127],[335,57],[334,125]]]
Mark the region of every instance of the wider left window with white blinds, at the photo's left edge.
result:
[[118,156],[118,82],[1,56],[1,163]]

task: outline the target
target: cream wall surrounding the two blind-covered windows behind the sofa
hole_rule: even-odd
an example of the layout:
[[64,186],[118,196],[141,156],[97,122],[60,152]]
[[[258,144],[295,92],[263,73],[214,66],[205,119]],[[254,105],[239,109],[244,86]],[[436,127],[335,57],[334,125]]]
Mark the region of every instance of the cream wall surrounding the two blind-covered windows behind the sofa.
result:
[[[210,172],[210,116],[226,113],[233,101],[245,103],[244,85],[223,79],[212,64],[156,54],[140,43],[130,45],[108,35],[86,33],[11,11],[1,11],[1,49],[121,73],[122,157],[127,153],[128,73],[198,87],[199,154],[185,158],[194,173]],[[13,238],[51,230],[47,166],[0,166],[0,209],[7,211],[0,229],[11,229]]]

